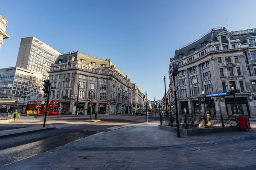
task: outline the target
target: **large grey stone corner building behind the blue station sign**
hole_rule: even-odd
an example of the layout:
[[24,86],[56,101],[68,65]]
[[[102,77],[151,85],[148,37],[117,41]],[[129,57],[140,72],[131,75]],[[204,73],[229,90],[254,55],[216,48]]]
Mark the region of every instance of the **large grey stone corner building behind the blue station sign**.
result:
[[[255,115],[255,41],[256,29],[229,32],[225,28],[214,28],[176,50],[171,62],[179,65],[178,112],[200,114],[207,110],[217,115]],[[230,92],[231,87],[235,88],[239,113],[236,113],[233,95],[215,96],[208,99],[207,105],[199,105],[203,100],[202,91],[219,94]]]

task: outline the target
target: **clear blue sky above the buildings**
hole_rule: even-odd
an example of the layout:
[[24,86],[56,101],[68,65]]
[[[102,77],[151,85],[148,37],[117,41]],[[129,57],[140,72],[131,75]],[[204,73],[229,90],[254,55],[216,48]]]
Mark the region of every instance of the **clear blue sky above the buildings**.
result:
[[0,68],[15,66],[20,39],[36,37],[64,53],[109,58],[148,99],[169,85],[175,49],[216,27],[256,28],[256,0],[3,0],[8,20]]

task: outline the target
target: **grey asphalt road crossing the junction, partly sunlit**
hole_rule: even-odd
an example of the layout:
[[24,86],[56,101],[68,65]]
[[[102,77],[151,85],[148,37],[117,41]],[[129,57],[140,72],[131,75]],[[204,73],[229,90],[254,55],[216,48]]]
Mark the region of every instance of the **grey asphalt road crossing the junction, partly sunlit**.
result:
[[[25,119],[25,116],[23,118]],[[47,126],[61,125],[63,127],[58,128],[57,126],[56,129],[52,130],[0,138],[0,167],[52,150],[81,138],[111,130],[111,127],[120,127],[124,124],[131,125],[146,121],[145,116],[101,116],[100,122],[81,124],[81,121],[84,119],[84,116],[49,116],[47,117]],[[159,120],[159,117],[150,117],[148,120],[155,121],[157,119]],[[7,124],[6,126],[0,126],[0,130],[31,126],[38,126],[38,124],[23,124],[22,122],[20,124]]]

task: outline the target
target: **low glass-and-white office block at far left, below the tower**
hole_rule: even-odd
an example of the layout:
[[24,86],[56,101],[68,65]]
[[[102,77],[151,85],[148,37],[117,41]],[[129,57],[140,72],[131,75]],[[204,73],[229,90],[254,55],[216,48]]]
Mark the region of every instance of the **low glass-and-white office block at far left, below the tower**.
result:
[[[0,100],[17,101],[20,98],[18,111],[23,112],[26,102],[36,100],[41,91],[42,75],[24,68],[10,67],[0,69]],[[17,104],[16,104],[17,105]],[[1,113],[14,111],[14,104],[1,102]]]

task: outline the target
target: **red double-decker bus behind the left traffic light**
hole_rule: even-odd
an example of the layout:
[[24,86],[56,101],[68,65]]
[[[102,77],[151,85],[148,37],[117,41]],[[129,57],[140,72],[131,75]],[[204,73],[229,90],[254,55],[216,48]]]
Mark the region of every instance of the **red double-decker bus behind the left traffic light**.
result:
[[[25,114],[35,114],[36,102],[37,101],[27,102],[26,108],[25,108]],[[43,101],[39,102],[38,114],[44,114],[45,113],[46,103],[47,103],[47,100],[43,100]],[[48,113],[49,113],[49,115],[58,115],[58,114],[60,114],[60,102],[58,100],[49,100]]]

